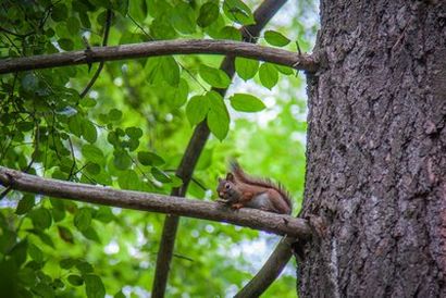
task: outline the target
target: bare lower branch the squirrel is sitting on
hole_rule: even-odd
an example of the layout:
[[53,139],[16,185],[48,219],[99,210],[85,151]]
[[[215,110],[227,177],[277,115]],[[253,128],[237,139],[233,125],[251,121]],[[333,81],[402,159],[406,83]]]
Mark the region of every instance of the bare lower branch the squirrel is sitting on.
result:
[[215,202],[42,178],[4,166],[0,166],[0,182],[16,190],[57,198],[226,222],[301,238],[311,234],[306,220],[289,215],[250,209],[232,211]]

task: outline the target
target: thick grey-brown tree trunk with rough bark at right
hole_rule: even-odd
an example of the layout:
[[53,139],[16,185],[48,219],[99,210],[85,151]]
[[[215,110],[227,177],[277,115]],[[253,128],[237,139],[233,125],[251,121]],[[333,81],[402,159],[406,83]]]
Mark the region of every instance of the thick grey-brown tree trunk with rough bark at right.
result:
[[446,297],[446,4],[321,1],[302,297]]

